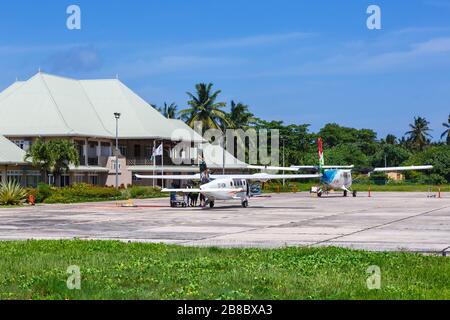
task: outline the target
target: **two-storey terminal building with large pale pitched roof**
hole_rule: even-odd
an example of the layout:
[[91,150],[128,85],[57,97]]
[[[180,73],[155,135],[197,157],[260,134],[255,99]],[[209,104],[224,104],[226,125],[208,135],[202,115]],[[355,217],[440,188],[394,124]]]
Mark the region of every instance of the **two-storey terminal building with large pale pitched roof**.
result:
[[[118,121],[115,113],[120,113]],[[113,186],[116,124],[119,185],[161,185],[139,181],[135,174],[198,173],[200,156],[213,171],[247,168],[181,120],[163,117],[118,79],[74,80],[39,72],[0,93],[0,180],[15,179],[23,186],[51,180],[25,160],[26,151],[38,138],[69,139],[78,149],[80,165],[71,166],[55,185]],[[182,150],[176,147],[180,143]],[[161,145],[162,155],[153,157],[155,146]]]

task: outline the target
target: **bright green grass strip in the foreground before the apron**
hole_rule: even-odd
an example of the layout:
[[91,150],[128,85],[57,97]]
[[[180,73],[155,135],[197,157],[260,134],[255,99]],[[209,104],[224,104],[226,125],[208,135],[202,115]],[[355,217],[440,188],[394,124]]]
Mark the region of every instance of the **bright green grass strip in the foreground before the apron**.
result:
[[[81,269],[81,290],[66,270]],[[381,289],[366,272],[381,268]],[[0,299],[450,299],[450,259],[338,248],[0,242]]]

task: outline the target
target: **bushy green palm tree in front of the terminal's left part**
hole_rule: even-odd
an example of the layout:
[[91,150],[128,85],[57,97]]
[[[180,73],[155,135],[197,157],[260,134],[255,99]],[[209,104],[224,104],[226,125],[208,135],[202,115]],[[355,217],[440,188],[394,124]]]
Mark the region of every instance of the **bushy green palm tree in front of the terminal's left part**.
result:
[[66,139],[50,140],[45,142],[41,139],[28,150],[25,160],[30,160],[33,166],[41,168],[45,172],[45,179],[49,172],[53,173],[55,178],[69,171],[69,166],[80,165],[80,158],[75,144]]

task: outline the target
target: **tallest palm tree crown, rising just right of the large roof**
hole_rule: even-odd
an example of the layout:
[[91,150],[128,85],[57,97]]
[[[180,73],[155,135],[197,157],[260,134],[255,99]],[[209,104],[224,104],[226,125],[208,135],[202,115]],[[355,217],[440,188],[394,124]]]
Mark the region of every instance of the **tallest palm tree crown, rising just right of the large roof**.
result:
[[180,116],[186,120],[188,126],[193,128],[197,121],[201,122],[205,129],[220,129],[221,123],[229,125],[227,115],[222,110],[226,104],[216,102],[221,91],[211,93],[212,86],[212,83],[199,83],[195,86],[197,91],[195,95],[187,92],[191,98],[188,102],[190,108],[181,110]]

